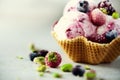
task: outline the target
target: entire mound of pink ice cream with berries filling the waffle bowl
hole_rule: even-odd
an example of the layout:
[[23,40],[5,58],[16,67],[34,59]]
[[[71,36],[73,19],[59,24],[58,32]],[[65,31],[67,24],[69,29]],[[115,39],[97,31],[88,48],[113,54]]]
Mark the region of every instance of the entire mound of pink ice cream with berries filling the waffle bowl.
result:
[[109,43],[120,36],[120,18],[108,0],[71,0],[54,26],[59,39],[78,36],[98,43]]

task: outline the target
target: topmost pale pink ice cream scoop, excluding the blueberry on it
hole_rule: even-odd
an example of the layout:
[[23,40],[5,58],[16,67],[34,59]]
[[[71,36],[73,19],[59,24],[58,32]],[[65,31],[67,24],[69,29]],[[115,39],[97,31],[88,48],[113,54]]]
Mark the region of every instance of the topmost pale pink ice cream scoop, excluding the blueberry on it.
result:
[[[78,11],[77,7],[79,2],[83,0],[70,0],[64,8],[63,14],[66,14],[70,11]],[[86,0],[89,3],[89,11],[92,11],[94,8],[97,7],[94,0]]]

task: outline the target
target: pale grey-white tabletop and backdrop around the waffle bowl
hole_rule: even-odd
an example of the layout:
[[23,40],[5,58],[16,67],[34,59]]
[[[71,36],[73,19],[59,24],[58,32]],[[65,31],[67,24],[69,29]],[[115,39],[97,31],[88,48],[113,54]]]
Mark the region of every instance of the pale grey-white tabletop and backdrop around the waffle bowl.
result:
[[[40,77],[35,70],[37,65],[28,57],[29,44],[35,43],[38,48],[61,53],[62,63],[78,64],[68,59],[50,34],[50,26],[61,17],[68,1],[0,0],[0,80],[83,80],[58,69],[49,70],[64,74],[61,79],[55,79],[49,74]],[[120,5],[120,0],[112,1],[115,6]],[[17,59],[17,56],[24,59]],[[111,64],[90,67],[97,71],[98,77],[120,80],[120,57]]]

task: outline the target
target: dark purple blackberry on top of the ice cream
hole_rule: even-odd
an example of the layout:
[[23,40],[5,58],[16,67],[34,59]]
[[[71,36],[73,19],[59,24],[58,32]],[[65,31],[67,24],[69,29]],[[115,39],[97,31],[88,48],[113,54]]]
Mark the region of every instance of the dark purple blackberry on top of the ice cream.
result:
[[103,0],[98,4],[98,8],[104,8],[107,10],[107,14],[108,15],[112,15],[113,12],[115,12],[115,9],[113,8],[113,6],[111,5],[111,3],[109,2],[109,0]]

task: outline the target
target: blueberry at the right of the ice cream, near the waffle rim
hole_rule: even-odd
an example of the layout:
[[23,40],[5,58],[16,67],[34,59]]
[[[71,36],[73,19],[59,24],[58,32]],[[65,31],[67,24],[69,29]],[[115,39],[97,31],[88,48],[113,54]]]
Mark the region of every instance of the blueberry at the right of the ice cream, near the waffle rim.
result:
[[117,37],[118,33],[116,30],[110,30],[108,32],[106,32],[105,37],[108,41],[112,41],[113,39],[115,39]]

